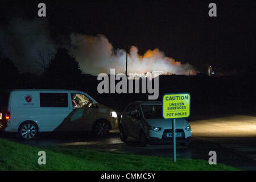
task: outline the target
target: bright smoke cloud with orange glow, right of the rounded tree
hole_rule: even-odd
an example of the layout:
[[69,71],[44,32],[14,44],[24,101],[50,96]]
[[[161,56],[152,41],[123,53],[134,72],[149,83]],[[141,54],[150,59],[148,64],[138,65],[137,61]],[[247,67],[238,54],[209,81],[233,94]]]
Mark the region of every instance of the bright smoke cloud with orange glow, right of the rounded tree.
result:
[[[104,35],[88,36],[71,35],[71,54],[79,61],[81,69],[89,74],[125,73],[126,51],[113,49]],[[167,57],[158,48],[148,50],[144,55],[138,54],[138,48],[132,46],[128,54],[127,73],[146,73],[162,71],[163,74],[196,75],[195,69],[189,64],[181,64]]]

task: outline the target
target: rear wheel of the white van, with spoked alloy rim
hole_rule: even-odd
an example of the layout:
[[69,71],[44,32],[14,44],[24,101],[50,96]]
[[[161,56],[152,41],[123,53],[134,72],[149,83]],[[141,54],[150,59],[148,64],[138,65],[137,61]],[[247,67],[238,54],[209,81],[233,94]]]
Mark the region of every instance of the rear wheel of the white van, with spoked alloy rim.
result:
[[19,127],[19,135],[24,140],[31,140],[38,135],[38,126],[33,122],[24,122]]

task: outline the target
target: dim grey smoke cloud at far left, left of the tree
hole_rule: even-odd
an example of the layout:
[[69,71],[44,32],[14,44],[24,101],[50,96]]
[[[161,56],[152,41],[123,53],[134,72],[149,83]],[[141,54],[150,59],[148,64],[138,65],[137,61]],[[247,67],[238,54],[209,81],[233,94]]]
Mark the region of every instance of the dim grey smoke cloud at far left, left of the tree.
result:
[[46,19],[14,19],[0,27],[0,58],[13,60],[20,72],[42,73],[42,61],[49,61],[42,59],[55,50]]

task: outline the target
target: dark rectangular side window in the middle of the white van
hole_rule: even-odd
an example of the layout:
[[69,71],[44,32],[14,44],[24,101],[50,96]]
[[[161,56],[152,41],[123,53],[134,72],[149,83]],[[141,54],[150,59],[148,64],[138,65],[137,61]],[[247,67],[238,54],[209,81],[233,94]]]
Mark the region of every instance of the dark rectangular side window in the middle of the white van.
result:
[[68,107],[68,94],[40,93],[40,107]]

